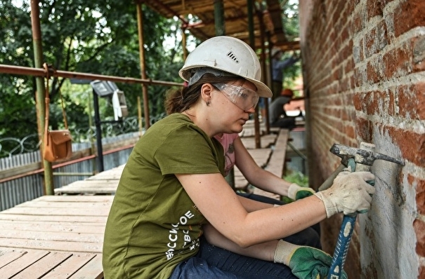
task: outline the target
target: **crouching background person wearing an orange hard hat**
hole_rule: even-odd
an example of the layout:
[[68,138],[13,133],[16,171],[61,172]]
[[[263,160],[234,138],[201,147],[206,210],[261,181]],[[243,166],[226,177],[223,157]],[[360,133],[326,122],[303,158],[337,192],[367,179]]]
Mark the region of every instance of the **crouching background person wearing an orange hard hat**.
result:
[[279,127],[292,130],[295,128],[295,117],[287,116],[285,104],[289,104],[292,100],[301,100],[303,97],[294,99],[294,91],[289,88],[282,90],[279,97],[271,102],[268,107],[268,121],[270,127]]

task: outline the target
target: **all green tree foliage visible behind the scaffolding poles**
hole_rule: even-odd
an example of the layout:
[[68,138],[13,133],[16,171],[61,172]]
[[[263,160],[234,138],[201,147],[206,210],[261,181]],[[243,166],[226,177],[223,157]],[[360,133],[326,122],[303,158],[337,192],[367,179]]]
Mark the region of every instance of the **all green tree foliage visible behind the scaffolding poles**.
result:
[[[292,1],[282,1],[282,5],[285,32],[289,39],[295,38],[298,36],[296,6]],[[39,10],[41,64],[47,62],[55,69],[68,72],[140,78],[138,22],[133,2],[40,0]],[[34,67],[30,1],[1,1],[0,18],[0,64]],[[176,18],[163,18],[143,6],[144,67],[148,79],[181,82],[177,74],[183,65],[180,24]],[[197,39],[188,36],[188,46],[196,43]],[[288,81],[292,80],[299,75],[299,65],[285,74]],[[0,76],[0,137],[22,138],[37,133],[35,81],[33,76]],[[137,116],[138,97],[143,108],[142,86],[129,83],[117,83],[117,86],[125,93],[129,116]],[[49,87],[52,128],[63,127],[59,92],[64,97],[70,128],[93,125],[89,85],[72,84],[69,79],[53,77]],[[164,115],[166,90],[169,87],[148,86],[151,117]],[[110,100],[101,98],[100,117],[102,120],[113,117]]]

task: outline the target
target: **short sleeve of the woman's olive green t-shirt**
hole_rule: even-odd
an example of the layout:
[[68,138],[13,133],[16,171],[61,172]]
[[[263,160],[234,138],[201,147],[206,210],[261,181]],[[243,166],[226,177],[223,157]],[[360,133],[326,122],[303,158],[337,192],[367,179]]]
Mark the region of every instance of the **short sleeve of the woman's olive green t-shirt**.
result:
[[193,125],[171,130],[155,152],[155,160],[162,175],[220,173],[224,168],[221,168],[224,161],[221,144]]

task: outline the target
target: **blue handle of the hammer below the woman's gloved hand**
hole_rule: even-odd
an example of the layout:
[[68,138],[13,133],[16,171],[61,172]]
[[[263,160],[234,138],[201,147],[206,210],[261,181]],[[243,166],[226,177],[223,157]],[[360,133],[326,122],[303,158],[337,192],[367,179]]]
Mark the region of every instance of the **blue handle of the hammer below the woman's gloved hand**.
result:
[[341,278],[348,253],[348,247],[350,247],[351,236],[353,236],[356,218],[357,214],[344,215],[344,219],[342,219],[341,230],[339,230],[338,240],[336,241],[334,257],[332,258],[329,275],[327,276],[328,279]]

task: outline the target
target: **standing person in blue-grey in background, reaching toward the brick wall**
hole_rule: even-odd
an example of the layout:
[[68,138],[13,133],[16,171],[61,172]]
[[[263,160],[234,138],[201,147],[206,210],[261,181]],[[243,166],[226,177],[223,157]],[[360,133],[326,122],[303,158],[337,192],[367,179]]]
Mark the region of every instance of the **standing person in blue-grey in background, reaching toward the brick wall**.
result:
[[299,56],[292,55],[291,57],[282,60],[282,50],[277,47],[273,47],[271,50],[271,63],[272,63],[272,102],[275,98],[280,96],[282,92],[282,84],[284,80],[283,71],[287,67],[291,67],[293,64],[299,61]]

